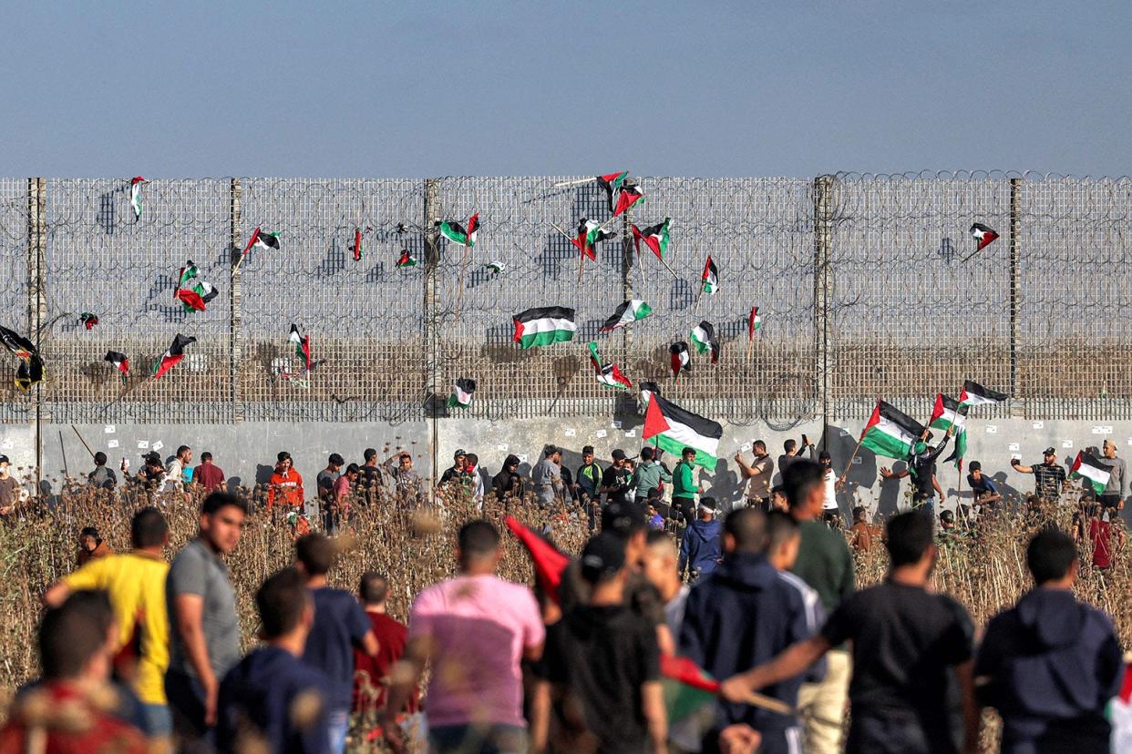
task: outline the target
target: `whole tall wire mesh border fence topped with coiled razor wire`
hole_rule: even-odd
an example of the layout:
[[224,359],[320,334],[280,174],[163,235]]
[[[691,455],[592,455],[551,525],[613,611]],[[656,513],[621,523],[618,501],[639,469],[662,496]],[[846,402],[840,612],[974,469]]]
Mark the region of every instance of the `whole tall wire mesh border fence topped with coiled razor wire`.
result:
[[[618,393],[594,379],[591,339],[634,384],[740,424],[860,417],[877,395],[924,414],[968,378],[1009,392],[1005,415],[1132,417],[1132,179],[642,177],[645,200],[581,267],[555,225],[611,213],[595,182],[555,185],[569,180],[157,180],[135,220],[128,179],[0,179],[0,324],[46,363],[29,393],[3,376],[0,423],[401,422],[446,410],[458,378],[478,383],[468,416],[608,415]],[[474,248],[438,236],[437,220],[473,213]],[[671,269],[629,233],[666,217]],[[1000,239],[972,254],[974,222]],[[281,249],[241,261],[256,227]],[[172,297],[189,259],[220,293],[205,312]],[[653,314],[599,333],[629,298]],[[549,305],[577,310],[574,343],[520,350],[512,315]],[[752,306],[763,326],[748,341]],[[668,346],[702,320],[719,363],[693,354],[674,382]],[[310,336],[309,374],[292,323]],[[147,379],[178,332],[197,341]],[[129,356],[129,382],[108,350]]]

